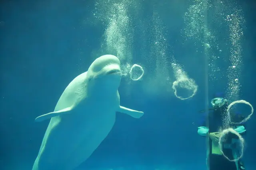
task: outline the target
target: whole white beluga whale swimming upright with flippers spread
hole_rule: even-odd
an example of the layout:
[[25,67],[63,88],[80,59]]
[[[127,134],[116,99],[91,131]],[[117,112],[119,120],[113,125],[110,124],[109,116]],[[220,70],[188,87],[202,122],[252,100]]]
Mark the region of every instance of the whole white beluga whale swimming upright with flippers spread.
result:
[[32,170],[74,170],[106,138],[116,112],[134,118],[144,115],[120,106],[121,78],[118,57],[102,55],[69,83],[54,111],[35,119],[50,119],[50,123]]

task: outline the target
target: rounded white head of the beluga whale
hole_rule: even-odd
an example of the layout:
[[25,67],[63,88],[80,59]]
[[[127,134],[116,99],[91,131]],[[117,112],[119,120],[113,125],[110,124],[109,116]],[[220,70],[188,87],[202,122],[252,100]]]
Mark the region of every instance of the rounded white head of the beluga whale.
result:
[[122,78],[120,60],[114,55],[102,55],[95,59],[87,72],[88,90],[117,91]]

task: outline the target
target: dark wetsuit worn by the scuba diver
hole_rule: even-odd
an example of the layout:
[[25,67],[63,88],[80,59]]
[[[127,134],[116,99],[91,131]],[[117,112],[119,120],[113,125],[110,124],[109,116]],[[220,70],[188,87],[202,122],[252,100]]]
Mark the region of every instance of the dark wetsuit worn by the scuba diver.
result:
[[[213,110],[209,113],[208,116],[208,128],[209,133],[211,132],[218,132],[218,130],[223,126],[223,119],[222,113],[224,113],[227,106],[223,106],[219,108],[218,110]],[[224,121],[225,122],[225,121]],[[204,122],[206,126],[206,123]],[[236,127],[235,127],[236,128]],[[223,128],[222,128],[223,129]],[[208,156],[208,163],[209,163],[209,170],[237,170],[236,162],[231,162],[227,158],[225,158],[223,155],[218,154],[212,154],[212,140],[209,138],[209,156]],[[225,155],[230,158],[234,159],[232,150],[231,149],[225,149],[222,148]],[[241,161],[238,161],[238,170],[244,170]],[[242,168],[241,168],[242,166]]]

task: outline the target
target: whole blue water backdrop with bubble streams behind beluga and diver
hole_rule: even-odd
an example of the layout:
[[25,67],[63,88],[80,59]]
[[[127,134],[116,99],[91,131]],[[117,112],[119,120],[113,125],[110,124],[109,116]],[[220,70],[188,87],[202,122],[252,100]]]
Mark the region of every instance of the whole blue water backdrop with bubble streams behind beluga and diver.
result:
[[[206,139],[197,129],[212,94],[256,105],[254,0],[0,3],[0,170],[32,169],[48,126],[34,119],[54,110],[68,83],[101,55],[119,57],[126,74],[120,104],[144,116],[116,113],[110,134],[78,170],[205,170]],[[133,64],[144,69],[138,81]],[[188,84],[174,86],[178,95],[196,88],[186,100],[172,88],[180,75]],[[255,122],[255,115],[246,122],[247,170],[255,168]]]

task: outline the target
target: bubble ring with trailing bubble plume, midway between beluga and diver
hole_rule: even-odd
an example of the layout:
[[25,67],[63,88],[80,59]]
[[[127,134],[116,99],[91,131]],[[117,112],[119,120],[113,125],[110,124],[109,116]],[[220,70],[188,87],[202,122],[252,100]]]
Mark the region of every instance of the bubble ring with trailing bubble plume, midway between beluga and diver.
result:
[[[174,70],[174,76],[176,78],[176,80],[172,83],[174,95],[181,100],[186,100],[196,95],[198,85],[196,85],[195,81],[188,78],[186,73],[182,71],[182,67],[177,63],[172,63],[172,69]],[[177,95],[177,88],[192,91],[192,95],[190,95],[189,97],[181,97]]]

